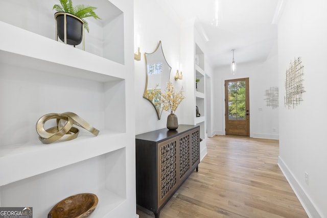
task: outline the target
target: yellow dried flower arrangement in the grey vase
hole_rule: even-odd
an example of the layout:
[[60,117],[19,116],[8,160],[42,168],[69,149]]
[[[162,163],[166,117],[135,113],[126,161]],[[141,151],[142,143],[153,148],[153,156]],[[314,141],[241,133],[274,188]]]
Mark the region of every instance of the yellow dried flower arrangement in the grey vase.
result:
[[184,89],[182,87],[179,92],[176,92],[174,85],[171,82],[168,82],[166,92],[161,93],[163,109],[170,113],[174,113],[178,105],[185,98],[183,91]]

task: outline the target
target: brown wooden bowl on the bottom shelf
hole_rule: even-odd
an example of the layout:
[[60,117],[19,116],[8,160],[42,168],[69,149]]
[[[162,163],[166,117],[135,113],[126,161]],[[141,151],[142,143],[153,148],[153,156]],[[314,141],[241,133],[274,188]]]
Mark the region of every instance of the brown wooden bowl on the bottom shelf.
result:
[[48,218],[86,218],[96,209],[98,197],[92,193],[80,193],[65,198],[48,213]]

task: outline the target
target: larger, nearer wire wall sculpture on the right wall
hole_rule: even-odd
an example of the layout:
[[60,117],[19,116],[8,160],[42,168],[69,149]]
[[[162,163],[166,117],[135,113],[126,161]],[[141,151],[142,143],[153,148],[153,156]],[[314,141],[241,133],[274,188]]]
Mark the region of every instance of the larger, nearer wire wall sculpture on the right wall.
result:
[[301,57],[294,58],[291,61],[289,68],[286,70],[285,89],[286,96],[284,97],[285,107],[299,105],[302,99],[302,93],[305,92],[303,87],[303,65]]

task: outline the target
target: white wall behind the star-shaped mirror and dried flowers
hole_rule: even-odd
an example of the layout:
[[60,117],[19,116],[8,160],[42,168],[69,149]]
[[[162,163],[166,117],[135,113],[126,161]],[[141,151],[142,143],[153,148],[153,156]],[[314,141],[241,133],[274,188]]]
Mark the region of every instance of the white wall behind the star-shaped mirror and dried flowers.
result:
[[[136,134],[166,128],[169,113],[163,111],[161,119],[158,120],[154,107],[148,100],[143,98],[146,83],[144,53],[152,53],[161,40],[162,50],[164,51],[166,60],[172,67],[171,81],[175,85],[176,90],[179,90],[181,82],[173,79],[178,69],[176,63],[179,61],[179,31],[179,23],[170,17],[168,10],[165,9],[164,3],[160,3],[159,0],[134,1],[134,32],[135,35],[138,33],[141,38],[140,49],[142,54],[141,61],[134,61]],[[183,102],[176,110],[177,117],[182,113],[182,110]]]

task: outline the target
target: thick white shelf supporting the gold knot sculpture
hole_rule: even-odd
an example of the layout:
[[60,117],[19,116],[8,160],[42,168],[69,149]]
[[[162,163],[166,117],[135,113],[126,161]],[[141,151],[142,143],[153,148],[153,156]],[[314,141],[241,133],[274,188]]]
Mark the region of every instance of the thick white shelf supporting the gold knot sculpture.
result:
[[[2,146],[0,166],[6,166],[8,163],[11,163],[11,166],[0,167],[0,186],[124,148],[124,138],[126,134],[123,133],[100,131],[97,137],[85,134],[71,141],[52,144],[42,144],[39,141]],[[78,156],[74,155],[77,151]],[[13,163],[13,160],[16,161]]]

